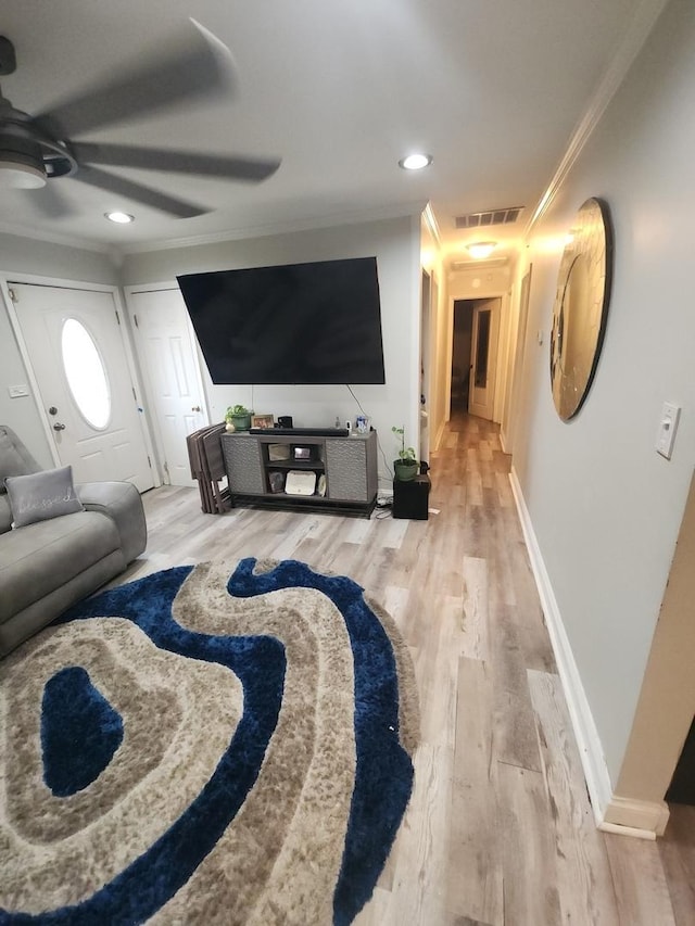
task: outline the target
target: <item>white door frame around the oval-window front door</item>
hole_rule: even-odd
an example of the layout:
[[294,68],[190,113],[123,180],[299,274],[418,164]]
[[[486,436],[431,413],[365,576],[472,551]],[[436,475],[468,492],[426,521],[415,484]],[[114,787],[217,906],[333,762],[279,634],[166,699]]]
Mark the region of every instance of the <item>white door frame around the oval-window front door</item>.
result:
[[[46,443],[49,448],[49,453],[53,459],[54,466],[61,466],[61,459],[58,454],[58,449],[55,448],[55,442],[53,441],[53,435],[51,433],[51,423],[49,421],[46,408],[43,407],[43,403],[41,402],[41,393],[39,391],[38,380],[34,372],[34,364],[31,361],[31,357],[26,346],[26,342],[24,340],[24,335],[22,333],[22,328],[20,325],[20,318],[17,316],[16,309],[14,307],[14,302],[10,295],[10,288],[13,282],[24,283],[26,286],[34,287],[46,287],[51,289],[64,289],[64,290],[79,290],[80,292],[106,292],[111,293],[114,301],[114,307],[118,315],[119,320],[119,329],[121,329],[121,342],[123,344],[123,348],[126,356],[126,365],[128,368],[128,376],[130,379],[130,385],[134,391],[134,397],[136,402],[139,402],[138,396],[144,396],[144,391],[142,389],[142,384],[140,382],[140,378],[138,376],[137,366],[135,363],[135,353],[132,350],[131,335],[129,330],[128,316],[125,310],[125,306],[123,304],[123,297],[121,295],[121,290],[118,287],[106,286],[104,283],[90,283],[85,282],[83,280],[66,280],[61,277],[40,277],[36,274],[15,274],[12,270],[1,270],[0,271],[0,293],[2,294],[2,299],[4,301],[4,305],[8,312],[8,317],[10,319],[10,326],[12,327],[12,331],[17,342],[17,347],[20,348],[20,356],[22,358],[22,363],[24,364],[24,368],[26,370],[26,376],[29,381],[29,385],[31,389],[31,399],[34,402],[34,406],[37,410],[39,421],[41,422],[41,429],[43,431],[43,436],[46,439]],[[138,416],[138,421],[140,422],[140,433],[142,435],[142,440],[144,442],[144,449],[147,455],[151,460],[155,459],[154,455],[154,445],[152,442],[152,434],[150,433],[150,428],[148,422],[144,420],[144,415]],[[152,467],[152,480],[154,482],[154,486],[159,486],[162,484],[157,468]]]

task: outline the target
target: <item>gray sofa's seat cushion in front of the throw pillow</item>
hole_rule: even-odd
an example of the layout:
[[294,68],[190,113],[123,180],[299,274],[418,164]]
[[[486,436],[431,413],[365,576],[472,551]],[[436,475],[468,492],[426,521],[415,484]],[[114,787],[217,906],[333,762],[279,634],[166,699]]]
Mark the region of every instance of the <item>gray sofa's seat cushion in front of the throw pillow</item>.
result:
[[77,511],[0,534],[0,623],[114,551],[121,555],[118,531],[98,511]]

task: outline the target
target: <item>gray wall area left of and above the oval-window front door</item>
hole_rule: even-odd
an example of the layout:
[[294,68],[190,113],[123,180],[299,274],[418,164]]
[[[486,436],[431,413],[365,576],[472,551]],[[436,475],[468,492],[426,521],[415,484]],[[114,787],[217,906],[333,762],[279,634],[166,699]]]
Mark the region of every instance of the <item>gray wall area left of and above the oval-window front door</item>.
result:
[[[115,286],[117,271],[105,254],[0,233],[0,276],[36,275]],[[26,368],[0,294],[0,422],[9,424],[37,461],[53,466],[34,396],[10,398],[10,385],[28,385]]]

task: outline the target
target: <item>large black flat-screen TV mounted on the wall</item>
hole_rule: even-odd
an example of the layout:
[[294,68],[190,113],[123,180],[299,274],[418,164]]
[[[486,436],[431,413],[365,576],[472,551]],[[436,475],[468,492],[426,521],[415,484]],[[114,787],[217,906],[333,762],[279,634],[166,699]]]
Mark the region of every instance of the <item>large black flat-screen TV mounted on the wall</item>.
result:
[[376,257],[177,277],[214,383],[383,383]]

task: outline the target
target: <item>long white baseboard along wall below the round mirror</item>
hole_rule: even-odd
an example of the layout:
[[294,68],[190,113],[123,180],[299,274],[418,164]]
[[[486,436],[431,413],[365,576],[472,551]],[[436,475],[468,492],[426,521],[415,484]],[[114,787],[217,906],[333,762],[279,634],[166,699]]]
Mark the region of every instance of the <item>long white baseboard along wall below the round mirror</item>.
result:
[[[509,473],[509,481],[523,531],[523,538],[529,550],[531,568],[545,614],[545,623],[555,654],[574,737],[579,746],[596,825],[598,828],[611,833],[623,833],[627,836],[654,839],[656,835],[664,833],[661,827],[666,826],[668,808],[666,804],[647,804],[645,801],[629,800],[614,795],[598,731],[589,707],[574,655],[563,624],[551,579],[514,467]],[[666,817],[664,816],[665,808]]]

